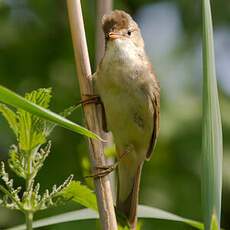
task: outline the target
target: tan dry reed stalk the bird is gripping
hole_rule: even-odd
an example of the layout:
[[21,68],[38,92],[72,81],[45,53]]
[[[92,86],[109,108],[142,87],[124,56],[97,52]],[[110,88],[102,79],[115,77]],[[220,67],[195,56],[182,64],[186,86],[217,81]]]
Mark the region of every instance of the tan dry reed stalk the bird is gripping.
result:
[[[78,80],[82,99],[84,100],[84,95],[93,94],[93,87],[80,0],[67,0],[67,8]],[[96,106],[93,104],[84,106],[84,113],[87,127],[91,131],[100,134]],[[89,139],[89,148],[92,168],[95,169],[97,166],[105,165],[102,143],[98,140]],[[117,222],[109,178],[105,176],[94,179],[94,183],[102,227],[106,230],[116,230]]]

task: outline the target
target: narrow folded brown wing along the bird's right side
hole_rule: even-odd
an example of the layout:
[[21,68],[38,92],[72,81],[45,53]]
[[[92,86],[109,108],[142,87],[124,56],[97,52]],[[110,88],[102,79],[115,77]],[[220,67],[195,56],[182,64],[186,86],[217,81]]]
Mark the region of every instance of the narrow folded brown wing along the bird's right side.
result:
[[160,85],[153,72],[151,73],[151,75],[152,75],[151,77],[153,77],[154,79],[154,87],[153,90],[151,90],[152,92],[149,92],[150,94],[149,96],[153,105],[154,114],[153,114],[153,132],[150,139],[148,151],[146,154],[147,160],[150,159],[153,153],[154,147],[156,145],[157,137],[159,134],[159,128],[160,128]]

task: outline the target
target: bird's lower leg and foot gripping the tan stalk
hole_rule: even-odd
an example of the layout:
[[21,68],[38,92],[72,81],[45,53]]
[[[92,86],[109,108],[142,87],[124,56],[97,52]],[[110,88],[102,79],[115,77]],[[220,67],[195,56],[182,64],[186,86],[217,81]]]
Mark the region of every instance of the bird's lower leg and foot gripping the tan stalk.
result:
[[93,178],[100,178],[100,177],[104,177],[107,176],[108,174],[110,174],[111,172],[113,172],[119,162],[121,161],[121,159],[128,153],[129,151],[124,151],[123,154],[118,158],[117,162],[115,162],[112,165],[102,165],[102,166],[96,166],[95,169],[97,169],[98,171],[96,173],[93,173],[90,176],[86,176],[85,178],[89,178],[89,177],[93,177]]

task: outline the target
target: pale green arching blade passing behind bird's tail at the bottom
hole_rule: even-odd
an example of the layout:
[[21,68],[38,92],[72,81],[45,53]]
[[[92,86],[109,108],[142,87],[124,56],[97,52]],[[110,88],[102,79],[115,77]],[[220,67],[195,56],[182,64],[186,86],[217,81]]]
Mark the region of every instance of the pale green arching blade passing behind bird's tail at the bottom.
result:
[[[147,207],[144,205],[138,206],[138,217],[177,221],[177,222],[188,224],[196,229],[200,229],[200,230],[204,229],[203,224],[200,222],[186,219],[186,218],[174,215],[172,213],[169,213],[169,212],[157,209],[157,208]],[[97,212],[90,210],[90,209],[82,209],[82,210],[67,212],[64,214],[60,214],[60,215],[56,215],[56,216],[52,216],[52,217],[48,217],[45,219],[35,221],[33,222],[33,227],[38,228],[38,227],[49,226],[52,224],[60,224],[60,223],[65,223],[65,222],[70,222],[70,221],[98,219],[98,218],[99,216]],[[25,225],[20,225],[14,228],[10,228],[8,230],[24,230],[25,227],[26,227]]]

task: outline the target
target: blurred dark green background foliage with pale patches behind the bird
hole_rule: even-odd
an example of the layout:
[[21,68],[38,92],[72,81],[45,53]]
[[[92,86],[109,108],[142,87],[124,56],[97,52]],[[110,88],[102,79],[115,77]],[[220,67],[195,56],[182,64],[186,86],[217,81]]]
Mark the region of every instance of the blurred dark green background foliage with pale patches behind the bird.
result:
[[[145,164],[140,202],[202,220],[201,154],[201,6],[188,0],[114,0],[139,23],[147,53],[161,83],[161,132],[156,152]],[[91,63],[95,63],[96,1],[82,1]],[[230,3],[212,1],[217,76],[224,132],[222,226],[230,229]],[[92,66],[95,70],[95,66]],[[64,0],[0,0],[0,82],[20,93],[53,88],[51,109],[58,112],[80,100]],[[79,109],[71,119],[84,124]],[[85,139],[62,128],[51,135],[53,147],[37,180],[43,190],[69,174],[91,186]],[[15,143],[0,117],[0,160]],[[18,179],[16,183],[23,181]],[[35,219],[80,208],[66,205],[36,214]],[[0,207],[0,229],[24,222],[22,214]],[[159,220],[141,220],[143,229],[191,229]],[[99,229],[80,221],[42,229]]]

